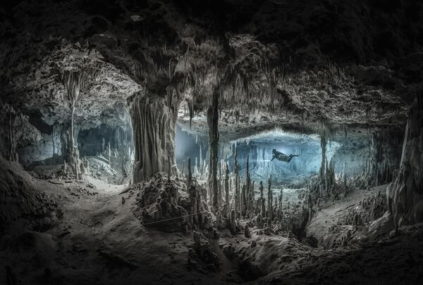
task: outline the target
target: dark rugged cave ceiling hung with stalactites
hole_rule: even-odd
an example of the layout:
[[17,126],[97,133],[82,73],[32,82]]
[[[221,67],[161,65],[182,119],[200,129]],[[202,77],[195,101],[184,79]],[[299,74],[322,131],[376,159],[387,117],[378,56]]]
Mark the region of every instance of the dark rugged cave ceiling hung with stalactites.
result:
[[416,1],[25,1],[1,14],[2,98],[49,125],[70,118],[63,72],[87,66],[82,128],[124,124],[135,92],[174,92],[180,124],[200,132],[216,90],[232,137],[398,127],[422,89]]

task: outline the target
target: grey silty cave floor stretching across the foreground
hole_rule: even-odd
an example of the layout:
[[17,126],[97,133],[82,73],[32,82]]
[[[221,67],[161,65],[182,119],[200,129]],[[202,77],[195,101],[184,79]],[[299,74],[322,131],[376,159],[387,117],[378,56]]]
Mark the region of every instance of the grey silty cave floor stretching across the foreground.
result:
[[[58,203],[63,217],[42,233],[25,231],[23,220],[15,223],[9,233],[13,241],[0,251],[0,265],[11,265],[18,284],[240,284],[248,281],[238,274],[238,263],[228,260],[219,247],[231,243],[237,249],[250,251],[243,234],[231,236],[226,232],[225,237],[210,241],[221,266],[216,272],[209,272],[195,261],[188,266],[192,236],[142,226],[131,210],[136,194],[122,194],[125,186],[90,177],[64,184],[37,180],[37,186]],[[352,196],[355,198],[343,203],[357,203],[364,193],[357,191]],[[331,215],[337,213],[335,209],[339,210],[337,203],[328,205],[321,210],[321,219],[331,220]],[[257,247],[250,258],[268,274],[248,282],[419,284],[423,280],[422,233],[423,225],[417,224],[390,239],[324,250],[284,236],[259,236],[257,229],[252,229]],[[51,270],[49,279],[44,277],[46,268]],[[0,270],[0,280],[5,279],[4,270]]]

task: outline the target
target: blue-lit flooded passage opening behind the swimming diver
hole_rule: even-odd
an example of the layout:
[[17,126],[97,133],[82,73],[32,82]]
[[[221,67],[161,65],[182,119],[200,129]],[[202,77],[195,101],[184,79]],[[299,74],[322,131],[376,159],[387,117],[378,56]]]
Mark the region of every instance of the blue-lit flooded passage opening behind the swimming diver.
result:
[[[362,171],[364,165],[364,156],[355,157],[357,152],[364,152],[364,148],[368,144],[368,139],[363,137],[359,148],[348,148],[343,142],[333,142],[326,150],[326,157],[330,161],[335,155],[338,160],[345,160],[348,168],[345,170],[346,175],[357,175]],[[176,128],[176,162],[180,172],[187,172],[188,158],[192,161],[193,173],[198,173],[200,177],[204,177],[207,172],[208,146],[207,138],[199,137],[195,134],[183,131],[179,126]],[[238,164],[239,170],[245,171],[245,163],[249,156],[251,179],[258,183],[260,180],[266,180],[272,175],[274,182],[278,184],[291,184],[297,180],[306,180],[319,173],[321,165],[321,146],[320,138],[317,134],[288,134],[278,130],[262,132],[259,134],[229,141],[226,146],[221,144],[219,165],[219,173],[224,172],[224,165],[228,164],[228,169],[234,170],[234,154],[235,148],[238,148]],[[341,148],[341,150],[339,150]],[[290,163],[284,163],[278,160],[271,160],[272,150],[276,149],[286,154],[298,154]],[[223,165],[223,166],[222,166]],[[340,161],[336,164],[337,173],[343,172],[343,163]],[[222,168],[223,167],[223,168]],[[206,175],[207,176],[207,175]],[[243,175],[241,175],[243,177]]]

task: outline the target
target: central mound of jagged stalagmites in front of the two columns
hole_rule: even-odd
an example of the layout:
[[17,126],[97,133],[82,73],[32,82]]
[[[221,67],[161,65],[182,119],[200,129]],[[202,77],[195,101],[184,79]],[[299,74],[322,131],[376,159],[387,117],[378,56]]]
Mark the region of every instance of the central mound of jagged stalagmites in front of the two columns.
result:
[[[306,202],[302,205],[290,205],[288,202],[283,208],[283,193],[281,191],[274,197],[271,179],[267,185],[267,198],[263,195],[262,182],[259,186],[260,196],[255,198],[254,183],[251,182],[249,174],[247,177],[249,186],[243,186],[240,196],[237,196],[236,191],[240,187],[236,187],[233,193],[225,189],[225,194],[219,195],[218,199],[221,206],[212,211],[211,208],[209,210],[210,196],[195,182],[190,173],[183,179],[159,172],[146,182],[137,184],[140,187],[137,198],[138,217],[147,227],[155,227],[165,232],[203,229],[208,237],[216,237],[216,229],[228,229],[231,234],[244,231],[245,236],[249,238],[248,227],[262,229],[259,234],[301,234],[312,210],[309,196],[300,197]],[[236,180],[239,181],[239,177]],[[247,220],[247,227],[241,226],[240,220]]]

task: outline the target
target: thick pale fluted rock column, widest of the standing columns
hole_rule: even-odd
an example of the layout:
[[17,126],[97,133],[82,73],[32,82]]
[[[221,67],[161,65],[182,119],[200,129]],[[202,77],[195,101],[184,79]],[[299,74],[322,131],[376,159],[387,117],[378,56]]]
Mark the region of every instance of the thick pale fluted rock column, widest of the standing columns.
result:
[[178,98],[175,91],[166,95],[137,92],[128,98],[133,122],[135,163],[133,182],[141,182],[157,172],[176,172],[175,126]]

